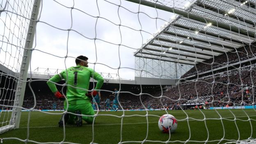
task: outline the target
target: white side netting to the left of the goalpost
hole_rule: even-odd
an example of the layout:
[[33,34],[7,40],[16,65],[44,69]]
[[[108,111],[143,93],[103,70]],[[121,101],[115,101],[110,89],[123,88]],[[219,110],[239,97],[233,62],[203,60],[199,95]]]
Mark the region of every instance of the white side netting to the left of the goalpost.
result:
[[16,73],[19,73],[33,2],[7,1],[0,4],[0,104],[1,127],[9,125],[14,105]]

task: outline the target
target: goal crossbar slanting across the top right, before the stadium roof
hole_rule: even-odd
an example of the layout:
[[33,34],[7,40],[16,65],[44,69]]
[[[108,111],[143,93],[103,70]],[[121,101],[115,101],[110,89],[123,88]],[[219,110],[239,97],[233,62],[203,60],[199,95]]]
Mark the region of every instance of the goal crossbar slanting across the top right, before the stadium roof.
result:
[[156,2],[149,2],[149,1],[146,1],[146,0],[127,0],[127,1],[135,2],[135,3],[140,4],[140,5],[146,5],[146,6],[149,6],[149,7],[156,8],[156,9],[162,9],[164,11],[169,11],[169,12],[172,12],[174,14],[182,15],[186,18],[191,18],[191,19],[196,20],[196,21],[201,21],[203,23],[212,23],[212,25],[214,25],[216,27],[221,27],[221,28],[226,29],[226,30],[231,30],[231,31],[236,32],[238,34],[244,34],[244,35],[247,35],[247,36],[253,37],[253,38],[256,37],[255,32],[245,30],[245,29],[237,27],[235,25],[229,25],[229,24],[226,24],[226,23],[222,23],[221,21],[215,21],[213,19],[206,18],[206,17],[203,17],[203,16],[199,16],[197,14],[192,14],[188,11],[185,11],[185,10],[182,10],[182,9],[177,9],[175,7],[167,7],[165,5],[159,5]]

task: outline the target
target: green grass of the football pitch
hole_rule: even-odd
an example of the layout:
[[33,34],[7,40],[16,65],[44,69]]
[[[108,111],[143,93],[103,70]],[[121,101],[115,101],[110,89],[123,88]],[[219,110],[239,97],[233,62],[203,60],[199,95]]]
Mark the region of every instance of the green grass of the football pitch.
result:
[[[143,141],[145,138],[149,141],[162,141],[165,142],[173,141],[172,143],[184,143],[186,140],[187,144],[197,144],[198,142],[193,141],[214,141],[208,142],[209,144],[217,144],[222,137],[224,139],[238,140],[247,139],[252,137],[256,139],[256,111],[255,110],[218,110],[221,115],[221,120],[214,120],[220,118],[215,110],[203,110],[206,121],[195,121],[193,119],[186,119],[187,115],[190,118],[203,120],[204,115],[199,110],[187,110],[185,112],[181,110],[168,111],[178,119],[178,128],[171,134],[162,133],[158,128],[158,116],[165,114],[165,111],[149,111],[149,114],[156,116],[148,116],[149,127],[147,135],[147,120],[146,117],[133,116],[118,118],[115,116],[122,116],[123,112],[99,112],[99,116],[95,119],[94,124],[94,143],[98,144],[117,144],[120,142],[127,141]],[[55,113],[55,114],[53,114]],[[61,142],[64,139],[64,129],[57,127],[57,123],[61,114],[58,112],[51,112],[46,114],[43,112],[31,112],[30,123],[29,123],[29,140],[36,142]],[[236,117],[236,121],[233,120],[233,114]],[[104,116],[101,114],[112,114],[113,116]],[[131,115],[145,115],[146,111],[125,111],[125,116]],[[187,115],[186,115],[187,114]],[[248,120],[247,115],[253,120]],[[2,121],[3,113],[1,114],[0,120]],[[20,140],[16,139],[5,139],[9,137],[17,137],[19,139],[27,139],[27,119],[29,112],[22,112],[20,128],[8,131],[0,135],[4,138],[4,144],[24,144]],[[229,119],[229,120],[227,120]],[[238,120],[240,119],[240,120]],[[122,133],[121,133],[121,121],[123,120]],[[224,127],[222,126],[222,122]],[[251,124],[250,124],[251,122]],[[238,129],[236,125],[238,126]],[[189,125],[189,126],[188,126]],[[92,124],[83,123],[82,127],[67,126],[66,136],[64,142],[82,143],[89,144],[92,142]],[[190,132],[189,132],[190,127]],[[207,133],[208,129],[208,133]],[[225,131],[225,133],[224,133]],[[225,134],[225,135],[224,135]],[[174,142],[182,141],[182,142]],[[221,143],[228,141],[223,140]],[[128,144],[134,144],[135,142],[129,142]],[[141,142],[140,142],[141,143]],[[145,142],[144,144],[152,144],[153,142]],[[158,144],[160,142],[154,142]],[[201,142],[202,144],[204,142]],[[32,144],[32,142],[28,142]]]

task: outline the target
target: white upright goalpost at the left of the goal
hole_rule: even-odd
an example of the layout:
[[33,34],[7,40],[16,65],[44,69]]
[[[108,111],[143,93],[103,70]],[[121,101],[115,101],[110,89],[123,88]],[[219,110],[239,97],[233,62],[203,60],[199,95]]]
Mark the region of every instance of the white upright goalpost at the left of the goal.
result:
[[3,126],[0,128],[0,133],[19,128],[20,119],[21,119],[21,108],[23,105],[23,99],[25,94],[26,82],[27,82],[27,72],[30,66],[32,47],[34,42],[34,35],[36,31],[37,18],[39,15],[41,0],[34,0],[32,7],[32,13],[30,18],[29,27],[27,30],[27,36],[25,41],[25,47],[23,48],[23,56],[19,73],[16,73],[18,76],[18,83],[16,86],[14,105],[12,107],[11,119],[9,125]]

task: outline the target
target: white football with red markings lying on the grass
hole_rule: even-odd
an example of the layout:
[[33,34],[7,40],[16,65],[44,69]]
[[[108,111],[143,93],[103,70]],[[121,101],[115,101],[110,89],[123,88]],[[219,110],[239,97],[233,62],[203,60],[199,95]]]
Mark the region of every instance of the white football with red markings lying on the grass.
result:
[[164,133],[173,133],[177,129],[178,123],[176,118],[171,114],[164,114],[158,121],[159,129]]

